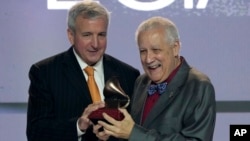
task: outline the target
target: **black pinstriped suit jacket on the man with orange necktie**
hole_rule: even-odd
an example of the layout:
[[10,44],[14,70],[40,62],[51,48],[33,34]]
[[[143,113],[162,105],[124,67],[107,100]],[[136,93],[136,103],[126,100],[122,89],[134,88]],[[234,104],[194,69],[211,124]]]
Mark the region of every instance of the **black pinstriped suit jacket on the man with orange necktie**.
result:
[[[103,57],[104,77],[117,76],[131,96],[139,71],[107,54]],[[72,47],[32,65],[27,114],[29,141],[77,141],[76,121],[92,103],[87,82]],[[82,140],[94,141],[87,131]]]

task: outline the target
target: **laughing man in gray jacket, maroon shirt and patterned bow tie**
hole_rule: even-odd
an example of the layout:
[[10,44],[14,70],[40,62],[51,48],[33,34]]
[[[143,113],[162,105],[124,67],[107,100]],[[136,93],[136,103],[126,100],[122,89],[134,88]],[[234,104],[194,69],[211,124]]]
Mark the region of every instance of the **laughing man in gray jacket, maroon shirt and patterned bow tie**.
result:
[[[215,91],[204,73],[180,56],[175,24],[163,17],[142,22],[136,32],[145,74],[135,82],[131,115],[116,121],[103,114],[94,133],[129,141],[212,141],[216,118]],[[104,131],[99,132],[99,128]]]

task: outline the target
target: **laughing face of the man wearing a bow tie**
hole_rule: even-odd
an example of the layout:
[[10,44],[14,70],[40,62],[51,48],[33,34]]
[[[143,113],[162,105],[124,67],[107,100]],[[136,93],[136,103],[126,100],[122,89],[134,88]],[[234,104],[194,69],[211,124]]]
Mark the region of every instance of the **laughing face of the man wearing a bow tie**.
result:
[[138,34],[138,45],[143,69],[155,83],[165,81],[180,64],[179,41],[170,45],[162,27],[151,28]]

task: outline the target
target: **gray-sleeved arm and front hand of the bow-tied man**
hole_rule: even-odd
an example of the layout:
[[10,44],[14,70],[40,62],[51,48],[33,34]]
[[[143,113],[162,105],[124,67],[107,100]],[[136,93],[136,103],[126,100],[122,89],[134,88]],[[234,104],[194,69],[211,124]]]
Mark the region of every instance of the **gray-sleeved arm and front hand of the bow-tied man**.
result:
[[[125,115],[123,121],[115,121],[104,114],[105,119],[111,125],[101,121],[99,124],[104,127],[105,134],[130,141],[212,141],[215,125],[214,89],[211,85],[203,86],[198,91],[202,94],[197,97],[196,101],[191,102],[195,104],[188,107],[189,110],[186,110],[184,119],[177,121],[177,124],[182,126],[179,129],[176,129],[175,125],[173,127],[166,125],[159,129],[159,125],[153,127],[154,123],[152,123],[151,129],[146,129],[141,125],[134,124],[130,115],[124,111],[121,111]],[[157,122],[164,124],[166,121]]]

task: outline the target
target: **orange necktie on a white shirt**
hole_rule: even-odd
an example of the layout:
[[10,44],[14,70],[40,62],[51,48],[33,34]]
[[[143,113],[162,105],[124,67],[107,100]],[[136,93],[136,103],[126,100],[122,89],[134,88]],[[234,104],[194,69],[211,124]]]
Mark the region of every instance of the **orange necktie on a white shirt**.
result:
[[100,102],[101,96],[94,78],[94,68],[87,66],[84,71],[88,74],[88,86],[93,103]]

